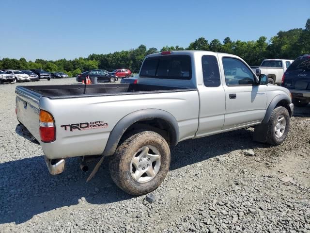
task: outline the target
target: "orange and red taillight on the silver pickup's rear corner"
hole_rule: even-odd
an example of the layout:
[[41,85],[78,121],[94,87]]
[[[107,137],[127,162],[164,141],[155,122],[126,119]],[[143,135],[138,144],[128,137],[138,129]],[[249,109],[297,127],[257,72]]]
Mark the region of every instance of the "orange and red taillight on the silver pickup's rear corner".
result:
[[42,142],[55,141],[55,122],[53,116],[44,110],[40,110],[40,137]]

